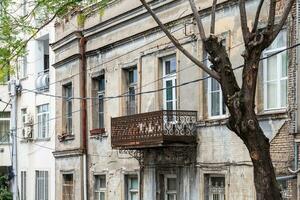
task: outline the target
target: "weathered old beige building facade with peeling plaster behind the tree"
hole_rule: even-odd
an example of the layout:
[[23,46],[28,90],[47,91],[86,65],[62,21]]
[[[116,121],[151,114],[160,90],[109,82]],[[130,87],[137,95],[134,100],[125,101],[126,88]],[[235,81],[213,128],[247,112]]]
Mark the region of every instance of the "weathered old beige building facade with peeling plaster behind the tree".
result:
[[[208,29],[211,2],[197,3]],[[149,4],[210,65],[188,1]],[[247,2],[249,24],[257,4]],[[170,43],[138,0],[100,10],[92,5],[55,25],[55,199],[255,199],[249,153],[226,127],[218,83]],[[296,23],[291,17],[263,53],[256,97],[286,199],[297,198],[297,66],[293,48],[276,52],[296,44]],[[218,3],[216,34],[240,66],[236,1]],[[241,83],[241,69],[235,73]]]

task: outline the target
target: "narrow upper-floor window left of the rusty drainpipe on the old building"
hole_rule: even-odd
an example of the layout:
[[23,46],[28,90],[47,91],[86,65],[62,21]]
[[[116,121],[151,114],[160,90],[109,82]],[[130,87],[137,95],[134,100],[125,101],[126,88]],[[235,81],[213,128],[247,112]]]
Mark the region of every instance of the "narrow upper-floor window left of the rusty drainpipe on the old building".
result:
[[72,84],[64,85],[64,119],[66,134],[72,135]]

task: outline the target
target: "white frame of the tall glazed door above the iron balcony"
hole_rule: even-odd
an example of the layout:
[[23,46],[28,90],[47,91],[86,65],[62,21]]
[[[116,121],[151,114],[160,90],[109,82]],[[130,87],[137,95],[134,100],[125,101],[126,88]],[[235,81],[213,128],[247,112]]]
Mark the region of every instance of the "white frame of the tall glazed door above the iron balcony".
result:
[[[166,74],[166,61],[170,61],[172,59],[175,59],[175,63],[176,63],[176,71],[171,73],[171,74]],[[177,60],[176,60],[176,55],[172,55],[172,56],[167,56],[167,57],[164,57],[162,58],[162,64],[163,64],[163,88],[164,88],[164,91],[163,91],[163,109],[164,110],[167,110],[167,102],[172,102],[172,107],[173,107],[173,110],[176,110],[177,109],[177,88],[176,87],[173,87],[172,88],[172,100],[169,100],[167,101],[167,81],[171,81],[172,82],[172,86],[176,86],[177,83],[177,77],[176,77],[176,74],[177,74]]]

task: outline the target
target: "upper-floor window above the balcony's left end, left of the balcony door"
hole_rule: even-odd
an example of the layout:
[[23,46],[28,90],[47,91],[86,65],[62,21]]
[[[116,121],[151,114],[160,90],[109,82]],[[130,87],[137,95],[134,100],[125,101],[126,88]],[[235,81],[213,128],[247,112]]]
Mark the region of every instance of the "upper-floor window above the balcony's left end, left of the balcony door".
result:
[[126,80],[128,97],[126,101],[126,113],[127,115],[136,114],[136,86],[137,86],[137,68],[131,67],[126,69]]

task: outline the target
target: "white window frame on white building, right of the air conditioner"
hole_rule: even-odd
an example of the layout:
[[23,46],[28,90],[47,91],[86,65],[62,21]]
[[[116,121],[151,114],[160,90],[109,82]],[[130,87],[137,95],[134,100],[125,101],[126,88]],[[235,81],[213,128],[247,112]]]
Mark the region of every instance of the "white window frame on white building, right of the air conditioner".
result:
[[[39,112],[39,108],[42,108],[44,106],[47,107],[47,111]],[[47,139],[47,138],[49,138],[49,115],[50,115],[49,104],[39,105],[36,107],[36,109],[37,109],[37,123],[38,123],[37,139]],[[43,117],[44,116],[46,117],[46,120],[45,120],[46,130],[44,133],[45,136],[43,136]],[[40,122],[40,117],[41,117],[42,122]]]

